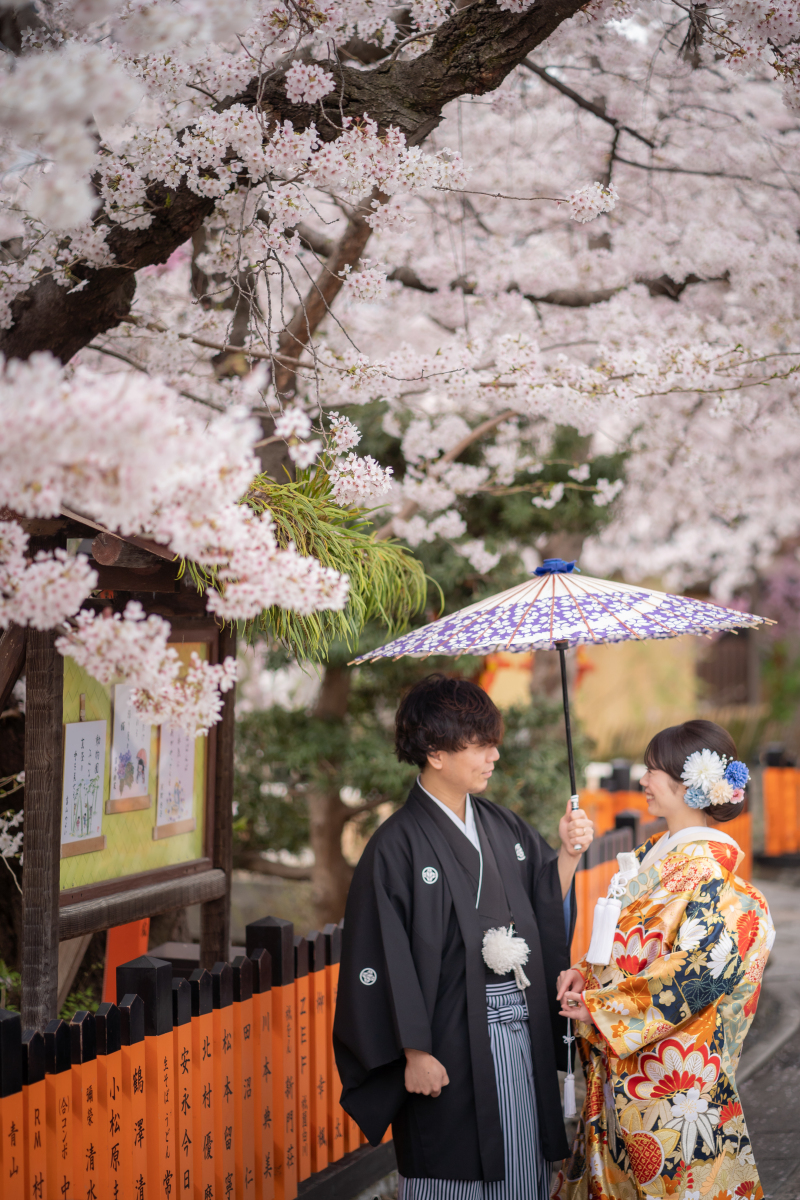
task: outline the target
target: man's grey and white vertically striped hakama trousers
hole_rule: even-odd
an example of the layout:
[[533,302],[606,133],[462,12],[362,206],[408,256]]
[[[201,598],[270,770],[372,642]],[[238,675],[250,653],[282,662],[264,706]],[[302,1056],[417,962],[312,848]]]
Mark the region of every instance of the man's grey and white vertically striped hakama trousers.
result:
[[505,1180],[419,1180],[399,1176],[397,1200],[549,1200],[551,1164],[540,1147],[525,994],[511,983],[486,986],[498,1086]]

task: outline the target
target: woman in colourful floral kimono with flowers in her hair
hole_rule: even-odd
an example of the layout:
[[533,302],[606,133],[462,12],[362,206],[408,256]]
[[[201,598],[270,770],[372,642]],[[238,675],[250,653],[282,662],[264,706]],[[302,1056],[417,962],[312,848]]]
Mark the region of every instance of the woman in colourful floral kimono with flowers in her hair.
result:
[[711,721],[662,730],[644,761],[668,832],[618,856],[589,950],[558,980],[587,1099],[552,1195],[760,1200],[735,1070],[775,930],[742,851],[708,824],[742,811],[750,775]]

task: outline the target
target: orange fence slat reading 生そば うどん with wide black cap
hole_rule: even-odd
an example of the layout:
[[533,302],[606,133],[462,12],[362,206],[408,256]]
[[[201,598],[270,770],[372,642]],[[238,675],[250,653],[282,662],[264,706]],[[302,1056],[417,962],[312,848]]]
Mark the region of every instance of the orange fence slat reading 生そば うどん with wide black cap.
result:
[[170,1198],[175,1192],[178,1168],[173,1097],[173,968],[164,959],[143,954],[116,968],[116,991],[118,995],[136,992],[144,1002],[146,1146],[150,1180],[145,1200],[151,1200],[154,1194]]

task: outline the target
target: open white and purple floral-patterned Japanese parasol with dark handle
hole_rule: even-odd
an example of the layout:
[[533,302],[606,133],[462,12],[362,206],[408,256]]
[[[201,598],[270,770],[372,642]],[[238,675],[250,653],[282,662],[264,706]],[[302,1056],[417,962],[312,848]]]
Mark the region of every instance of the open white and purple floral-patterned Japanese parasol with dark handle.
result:
[[565,650],[571,646],[711,635],[734,629],[756,629],[764,617],[693,596],[654,592],[636,583],[596,580],[582,575],[575,563],[546,558],[533,578],[507,592],[486,596],[421,629],[403,634],[386,646],[355,659],[426,659],[431,654],[494,654],[498,650],[558,650],[566,726],[572,808],[578,808],[575,756],[570,728],[570,695]]

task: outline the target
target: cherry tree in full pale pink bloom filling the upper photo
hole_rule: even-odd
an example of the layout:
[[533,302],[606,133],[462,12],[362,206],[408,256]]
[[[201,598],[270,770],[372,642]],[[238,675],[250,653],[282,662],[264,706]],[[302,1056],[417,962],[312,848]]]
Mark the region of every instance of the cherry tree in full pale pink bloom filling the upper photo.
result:
[[[273,451],[297,529],[383,504],[371,546],[474,588],[582,551],[726,595],[795,545],[793,0],[37,0],[0,38],[12,514],[162,539],[221,619],[283,629],[355,593],[283,536]],[[510,498],[518,535],[475,520]],[[76,618],[95,582],[0,526],[0,624],[67,622],[207,728],[231,667]]]

